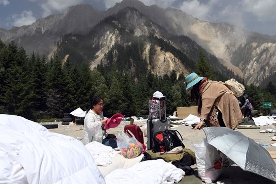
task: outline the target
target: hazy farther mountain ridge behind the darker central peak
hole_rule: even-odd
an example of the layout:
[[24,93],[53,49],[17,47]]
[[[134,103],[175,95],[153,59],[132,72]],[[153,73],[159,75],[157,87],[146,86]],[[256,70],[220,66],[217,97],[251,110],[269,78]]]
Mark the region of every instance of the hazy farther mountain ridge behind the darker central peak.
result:
[[[208,56],[215,56],[212,59],[207,56],[208,62],[218,59],[235,74],[244,78],[247,83],[256,85],[268,83],[266,78],[275,73],[273,64],[275,63],[276,39],[274,37],[249,32],[227,23],[200,21],[181,10],[162,9],[155,5],[145,6],[137,0],[123,0],[107,11],[94,10],[89,5],[73,6],[68,8],[64,14],[50,15],[29,26],[14,27],[11,30],[0,29],[0,37],[6,43],[15,40],[29,54],[35,51],[50,55],[51,51],[56,49],[55,43],[61,41],[62,36],[69,33],[88,34],[89,30],[105,17],[116,15],[125,7],[135,8],[152,23],[164,28],[170,35],[187,36],[209,52]],[[131,17],[131,19],[135,19],[135,17]],[[148,26],[146,25],[146,27]],[[138,34],[135,36],[145,35],[143,32],[145,30],[140,29],[140,35],[135,32]],[[163,37],[160,35],[159,38]],[[169,39],[166,41],[170,42]],[[186,52],[186,55],[191,54],[185,49],[187,42],[179,44],[182,46],[175,45],[175,48]],[[191,49],[189,44],[187,48]],[[196,59],[196,57],[192,58]],[[91,61],[93,59],[91,58]],[[93,61],[94,64],[97,62],[99,61]],[[213,65],[212,67],[214,67]],[[177,67],[175,66],[175,68]],[[276,80],[274,79],[272,82],[275,84]]]

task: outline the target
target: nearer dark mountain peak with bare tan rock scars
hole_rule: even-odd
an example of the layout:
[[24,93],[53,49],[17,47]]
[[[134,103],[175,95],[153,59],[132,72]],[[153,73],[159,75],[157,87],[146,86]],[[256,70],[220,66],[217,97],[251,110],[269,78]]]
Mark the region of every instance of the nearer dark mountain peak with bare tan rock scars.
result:
[[[103,65],[107,72],[126,71],[139,78],[147,69],[158,76],[172,70],[188,75],[194,71],[201,49],[189,37],[172,35],[137,9],[125,7],[86,35],[64,35],[55,53],[69,57],[72,63],[90,62],[91,68]],[[215,56],[204,49],[203,52],[216,73],[234,77]]]

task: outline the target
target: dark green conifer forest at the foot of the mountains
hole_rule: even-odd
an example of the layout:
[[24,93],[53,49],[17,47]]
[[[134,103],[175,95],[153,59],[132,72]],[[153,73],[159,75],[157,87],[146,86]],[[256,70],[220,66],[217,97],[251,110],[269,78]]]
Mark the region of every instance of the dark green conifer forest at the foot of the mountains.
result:
[[[206,62],[201,52],[199,55],[198,62]],[[208,67],[200,66],[197,65],[195,72],[221,80],[214,73],[203,71]],[[139,79],[127,72],[106,72],[102,65],[91,71],[88,63],[79,67],[72,65],[70,59],[62,62],[58,55],[49,61],[34,52],[28,56],[13,41],[5,44],[0,40],[0,113],[33,121],[62,118],[65,112],[78,107],[86,110],[94,95],[104,100],[106,117],[114,113],[147,117],[149,99],[155,91],[166,96],[167,115],[170,115],[177,107],[191,106],[190,91],[186,91],[184,81],[184,74],[177,76],[175,71],[160,77],[149,70]],[[244,85],[250,102],[263,115],[270,109],[261,108],[262,102],[272,102],[272,109],[276,107],[276,87],[272,82],[263,89],[254,84]],[[244,102],[242,96],[239,100]]]

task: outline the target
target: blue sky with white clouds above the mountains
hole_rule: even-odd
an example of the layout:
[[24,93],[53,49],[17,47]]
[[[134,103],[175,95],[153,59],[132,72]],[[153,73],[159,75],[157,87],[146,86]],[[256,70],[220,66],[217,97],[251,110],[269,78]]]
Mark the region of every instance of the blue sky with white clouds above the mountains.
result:
[[[121,0],[0,0],[0,28],[30,25],[50,14],[62,14],[70,6],[92,5],[107,10]],[[275,0],[141,0],[145,5],[182,10],[202,21],[226,22],[248,31],[276,35]]]

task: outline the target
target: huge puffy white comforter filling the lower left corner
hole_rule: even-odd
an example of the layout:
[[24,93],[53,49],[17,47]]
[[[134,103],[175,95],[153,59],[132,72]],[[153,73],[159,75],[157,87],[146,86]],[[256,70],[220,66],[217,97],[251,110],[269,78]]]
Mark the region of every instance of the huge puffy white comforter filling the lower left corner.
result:
[[0,119],[0,183],[105,183],[82,142],[20,116]]

